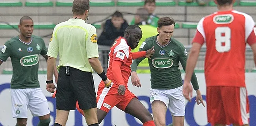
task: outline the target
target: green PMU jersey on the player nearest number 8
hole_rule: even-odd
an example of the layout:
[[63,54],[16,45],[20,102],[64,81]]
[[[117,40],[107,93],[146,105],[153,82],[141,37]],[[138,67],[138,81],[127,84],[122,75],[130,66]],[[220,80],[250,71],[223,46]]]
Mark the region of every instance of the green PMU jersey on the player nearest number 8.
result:
[[[158,35],[147,38],[139,48],[139,51],[146,51],[154,46],[154,49],[156,50],[151,59],[148,59],[151,88],[174,89],[180,87],[183,83],[179,62],[185,70],[187,61],[186,48],[174,38],[171,38],[171,41],[167,45],[161,46],[157,42],[157,36]],[[132,71],[136,71],[137,65],[144,58],[145,57],[134,59],[132,63]],[[199,89],[195,73],[193,73],[191,82],[195,90]]]

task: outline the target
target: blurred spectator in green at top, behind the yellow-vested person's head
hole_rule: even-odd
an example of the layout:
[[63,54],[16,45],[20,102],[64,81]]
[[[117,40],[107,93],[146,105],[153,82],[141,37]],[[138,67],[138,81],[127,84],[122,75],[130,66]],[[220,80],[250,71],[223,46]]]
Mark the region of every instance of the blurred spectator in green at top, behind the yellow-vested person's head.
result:
[[[157,27],[157,22],[158,22],[159,18],[156,17],[156,15],[154,14],[154,11],[156,9],[156,1],[155,0],[145,0],[144,8],[147,9],[148,13],[149,13],[149,17],[146,20],[147,24]],[[130,24],[131,25],[135,24],[135,19],[133,19]]]

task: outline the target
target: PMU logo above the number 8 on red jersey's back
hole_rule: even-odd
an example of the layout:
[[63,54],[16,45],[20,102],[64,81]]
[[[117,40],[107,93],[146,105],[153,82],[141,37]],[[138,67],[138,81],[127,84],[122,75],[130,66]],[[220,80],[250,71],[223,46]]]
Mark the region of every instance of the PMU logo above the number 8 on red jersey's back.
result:
[[213,22],[215,24],[229,24],[233,22],[234,16],[231,14],[226,15],[216,15],[213,17]]

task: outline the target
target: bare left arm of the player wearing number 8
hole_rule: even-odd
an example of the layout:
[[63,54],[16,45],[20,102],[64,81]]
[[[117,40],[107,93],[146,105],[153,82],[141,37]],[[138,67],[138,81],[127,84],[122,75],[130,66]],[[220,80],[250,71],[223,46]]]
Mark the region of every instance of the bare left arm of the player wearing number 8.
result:
[[184,97],[191,102],[192,97],[192,86],[190,84],[190,80],[197,64],[198,55],[200,52],[201,44],[193,43],[192,48],[189,52],[189,56],[187,58],[187,65],[186,65],[186,76],[183,84],[183,95]]

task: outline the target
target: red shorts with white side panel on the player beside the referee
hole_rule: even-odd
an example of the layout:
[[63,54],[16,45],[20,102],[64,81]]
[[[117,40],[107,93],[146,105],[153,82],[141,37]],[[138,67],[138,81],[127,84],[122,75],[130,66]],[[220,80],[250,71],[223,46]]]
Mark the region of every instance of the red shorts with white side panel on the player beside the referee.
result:
[[127,88],[124,95],[119,95],[117,92],[119,85],[113,84],[111,87],[104,87],[104,82],[100,82],[97,92],[97,108],[103,111],[108,111],[116,106],[122,111],[130,103],[132,98],[137,98]]

